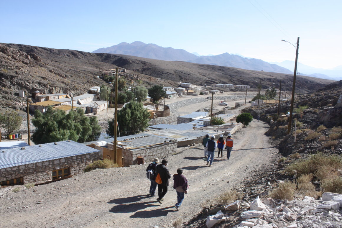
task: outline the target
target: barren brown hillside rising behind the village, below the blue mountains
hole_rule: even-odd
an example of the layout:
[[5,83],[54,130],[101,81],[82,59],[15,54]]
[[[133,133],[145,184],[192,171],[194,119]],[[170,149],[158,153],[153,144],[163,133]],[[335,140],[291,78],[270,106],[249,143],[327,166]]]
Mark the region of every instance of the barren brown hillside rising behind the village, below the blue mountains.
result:
[[[0,105],[9,106],[23,100],[16,96],[19,89],[29,92],[85,93],[92,86],[105,82],[97,78],[100,70],[126,68],[131,74],[140,74],[147,83],[149,76],[196,85],[235,84],[251,85],[259,81],[263,88],[279,85],[290,90],[292,75],[249,71],[233,67],[162,61],[107,53],[89,53],[75,50],[52,49],[18,44],[0,44]],[[332,83],[331,80],[299,76],[297,89],[311,92]],[[20,107],[20,105],[14,105]]]

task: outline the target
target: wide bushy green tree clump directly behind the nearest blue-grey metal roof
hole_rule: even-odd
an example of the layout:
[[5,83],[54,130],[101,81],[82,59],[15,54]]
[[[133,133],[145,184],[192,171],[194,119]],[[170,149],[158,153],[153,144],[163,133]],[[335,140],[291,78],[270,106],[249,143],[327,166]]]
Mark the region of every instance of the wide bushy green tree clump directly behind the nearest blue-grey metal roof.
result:
[[36,132],[32,135],[35,144],[67,139],[76,142],[95,141],[101,134],[97,118],[87,117],[80,108],[71,110],[68,114],[52,107],[48,107],[44,113],[36,110],[32,124],[36,127]]

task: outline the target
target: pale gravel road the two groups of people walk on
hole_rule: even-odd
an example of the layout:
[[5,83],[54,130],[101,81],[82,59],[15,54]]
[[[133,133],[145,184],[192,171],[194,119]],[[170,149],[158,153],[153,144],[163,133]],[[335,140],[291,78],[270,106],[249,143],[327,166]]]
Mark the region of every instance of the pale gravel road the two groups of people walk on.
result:
[[215,158],[212,167],[202,159],[200,144],[179,148],[178,154],[168,157],[170,173],[182,167],[190,184],[180,211],[173,207],[172,179],[163,204],[146,195],[150,184],[145,177],[147,163],[96,169],[17,193],[11,191],[14,187],[0,189],[0,227],[171,227],[179,217],[191,219],[208,199],[239,185],[254,168],[262,168],[277,156],[264,136],[267,128],[253,120],[233,135],[231,159]]

